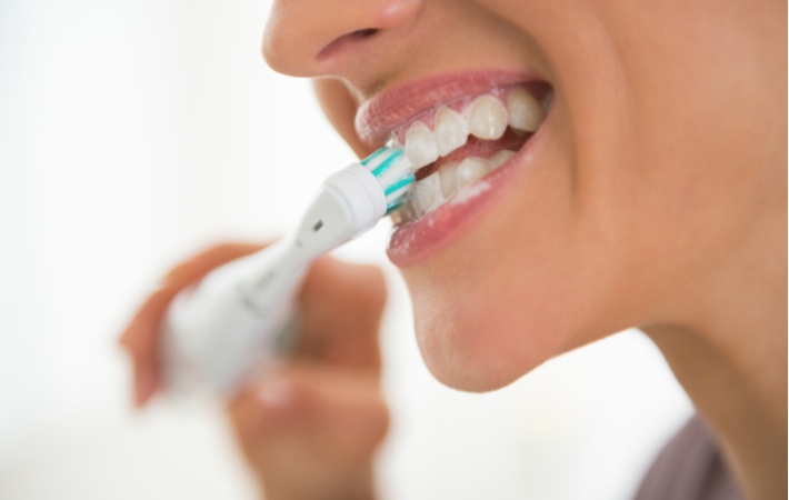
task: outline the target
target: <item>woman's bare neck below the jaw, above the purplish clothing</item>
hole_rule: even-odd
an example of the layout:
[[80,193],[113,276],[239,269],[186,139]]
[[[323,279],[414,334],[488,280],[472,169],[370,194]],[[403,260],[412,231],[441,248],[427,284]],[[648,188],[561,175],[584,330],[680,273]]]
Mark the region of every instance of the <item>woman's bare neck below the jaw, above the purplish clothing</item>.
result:
[[787,498],[787,220],[779,210],[672,324],[643,331],[716,431],[746,496]]

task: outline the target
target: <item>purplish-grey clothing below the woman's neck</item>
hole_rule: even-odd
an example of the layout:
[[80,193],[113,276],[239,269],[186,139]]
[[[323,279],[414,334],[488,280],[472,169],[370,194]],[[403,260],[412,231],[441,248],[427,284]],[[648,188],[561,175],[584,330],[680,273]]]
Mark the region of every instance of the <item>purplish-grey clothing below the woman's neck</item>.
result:
[[743,500],[718,444],[698,416],[669,441],[636,500]]

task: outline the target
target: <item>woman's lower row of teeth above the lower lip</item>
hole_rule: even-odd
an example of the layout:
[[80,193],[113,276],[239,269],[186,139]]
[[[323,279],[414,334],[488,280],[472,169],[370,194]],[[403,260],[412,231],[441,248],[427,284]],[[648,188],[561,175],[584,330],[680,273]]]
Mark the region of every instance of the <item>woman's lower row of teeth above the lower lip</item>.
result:
[[502,149],[488,159],[469,157],[459,163],[442,164],[438,171],[416,183],[413,193],[392,212],[392,221],[394,224],[410,222],[437,209],[467,186],[501,167],[515,154],[515,151]]

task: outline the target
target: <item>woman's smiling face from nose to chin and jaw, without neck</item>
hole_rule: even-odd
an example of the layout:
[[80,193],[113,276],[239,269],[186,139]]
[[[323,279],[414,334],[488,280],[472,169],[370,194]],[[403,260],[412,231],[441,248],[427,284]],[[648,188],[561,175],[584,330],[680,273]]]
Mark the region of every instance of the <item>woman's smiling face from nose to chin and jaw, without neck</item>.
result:
[[[408,148],[415,120],[435,138],[441,107],[462,122],[479,96],[552,93],[536,132],[440,160],[517,150],[425,201],[389,248],[430,370],[490,390],[621,329],[698,319],[700,290],[786,199],[786,43],[763,41],[786,41],[785,19],[758,1],[280,0],[263,51],[338,79],[319,96],[360,153]],[[497,106],[477,123],[499,127]]]

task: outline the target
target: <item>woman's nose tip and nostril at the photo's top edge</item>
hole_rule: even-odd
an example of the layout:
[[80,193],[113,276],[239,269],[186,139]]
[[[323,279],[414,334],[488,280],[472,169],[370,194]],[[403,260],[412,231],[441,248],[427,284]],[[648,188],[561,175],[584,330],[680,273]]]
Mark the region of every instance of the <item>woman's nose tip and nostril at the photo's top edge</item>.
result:
[[274,0],[263,57],[293,77],[344,77],[373,57],[372,39],[405,30],[426,0]]

